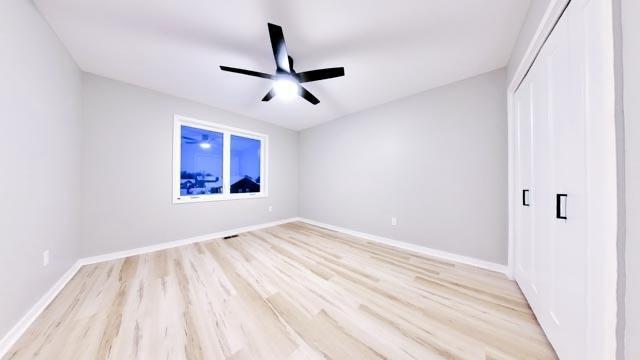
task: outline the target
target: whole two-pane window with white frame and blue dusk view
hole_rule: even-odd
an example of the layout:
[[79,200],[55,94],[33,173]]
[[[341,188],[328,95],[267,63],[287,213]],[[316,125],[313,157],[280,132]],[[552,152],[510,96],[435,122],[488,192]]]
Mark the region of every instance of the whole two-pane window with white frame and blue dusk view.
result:
[[267,136],[175,116],[174,203],[267,196]]

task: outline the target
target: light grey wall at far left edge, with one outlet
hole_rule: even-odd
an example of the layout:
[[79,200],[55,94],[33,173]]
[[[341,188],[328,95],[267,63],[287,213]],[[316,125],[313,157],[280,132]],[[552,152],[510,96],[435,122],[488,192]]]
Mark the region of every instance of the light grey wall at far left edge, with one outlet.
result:
[[81,86],[33,3],[0,1],[0,338],[77,258]]

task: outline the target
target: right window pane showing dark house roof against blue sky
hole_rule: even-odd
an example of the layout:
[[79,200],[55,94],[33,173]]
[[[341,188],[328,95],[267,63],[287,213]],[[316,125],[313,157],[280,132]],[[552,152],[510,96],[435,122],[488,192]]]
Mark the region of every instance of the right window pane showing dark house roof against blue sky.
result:
[[260,192],[260,140],[231,135],[231,193]]

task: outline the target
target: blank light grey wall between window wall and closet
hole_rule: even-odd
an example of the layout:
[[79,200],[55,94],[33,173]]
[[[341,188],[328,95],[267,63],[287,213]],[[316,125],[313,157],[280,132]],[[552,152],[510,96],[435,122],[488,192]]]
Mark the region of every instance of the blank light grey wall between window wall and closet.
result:
[[506,264],[505,84],[497,70],[302,131],[300,215]]

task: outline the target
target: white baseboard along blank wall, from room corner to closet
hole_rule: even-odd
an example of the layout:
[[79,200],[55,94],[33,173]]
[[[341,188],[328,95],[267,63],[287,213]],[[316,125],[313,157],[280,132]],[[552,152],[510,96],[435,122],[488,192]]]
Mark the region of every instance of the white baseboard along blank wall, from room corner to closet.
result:
[[382,236],[371,235],[371,234],[363,233],[363,232],[360,232],[360,231],[355,231],[355,230],[346,229],[346,228],[339,227],[339,226],[329,225],[329,224],[321,223],[321,222],[315,221],[315,220],[310,220],[310,219],[305,219],[305,218],[298,218],[298,221],[302,221],[302,222],[305,222],[307,224],[323,227],[325,229],[341,232],[341,233],[344,233],[344,234],[347,234],[347,235],[357,236],[357,237],[360,237],[360,238],[363,238],[363,239],[366,239],[366,240],[371,240],[371,241],[379,242],[379,243],[382,243],[382,244],[391,245],[391,246],[394,246],[394,247],[397,247],[397,248],[400,248],[400,249],[414,251],[414,252],[417,252],[417,253],[420,253],[420,254],[424,254],[424,255],[427,255],[427,256],[431,256],[431,257],[435,257],[435,258],[440,258],[440,259],[444,259],[444,260],[448,260],[448,261],[458,262],[458,263],[462,263],[462,264],[465,264],[465,265],[471,265],[471,266],[479,267],[479,268],[486,269],[486,270],[496,271],[496,272],[499,272],[499,273],[503,273],[505,275],[508,273],[508,268],[507,268],[506,265],[496,264],[496,263],[493,263],[493,262],[490,262],[490,261],[479,260],[479,259],[475,259],[475,258],[471,258],[471,257],[467,257],[467,256],[457,255],[457,254],[453,254],[453,253],[442,251],[442,250],[432,249],[432,248],[429,248],[429,247],[426,247],[426,246],[422,246],[422,245],[410,244],[410,243],[407,243],[407,242],[404,242],[404,241],[388,239],[388,238],[385,238],[385,237],[382,237]]

